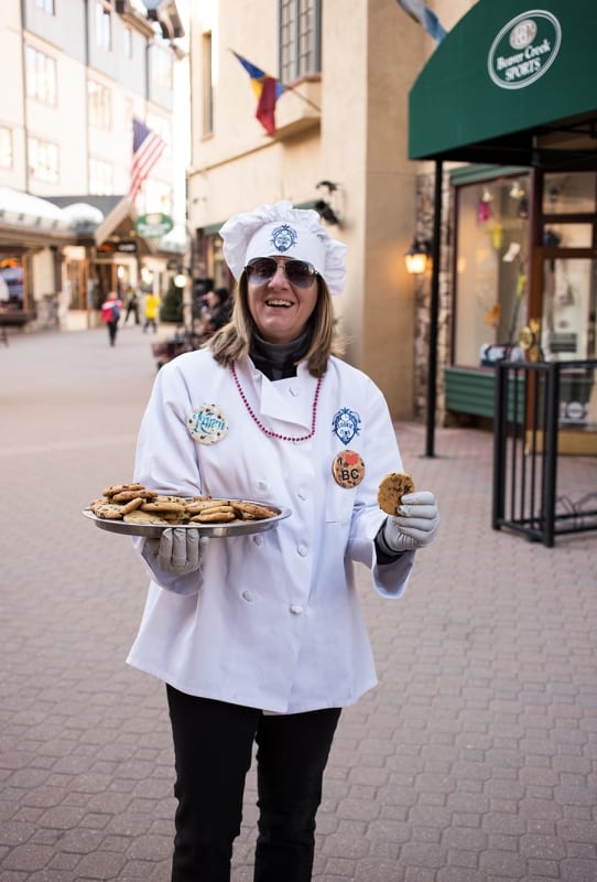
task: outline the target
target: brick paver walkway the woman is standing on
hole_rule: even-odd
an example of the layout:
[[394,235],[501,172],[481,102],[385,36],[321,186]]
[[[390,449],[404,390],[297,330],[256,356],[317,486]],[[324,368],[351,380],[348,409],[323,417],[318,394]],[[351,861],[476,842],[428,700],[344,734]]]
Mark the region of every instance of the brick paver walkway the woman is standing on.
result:
[[[145,576],[84,520],[128,477],[152,338],[105,329],[0,349],[0,882],[167,882],[163,686],[124,665]],[[443,526],[406,596],[360,585],[380,686],[341,718],[318,882],[597,880],[597,535],[490,528],[491,437],[397,427]],[[595,488],[596,462],[571,461]],[[234,882],[250,882],[249,779]],[[284,880],[280,880],[284,882]]]

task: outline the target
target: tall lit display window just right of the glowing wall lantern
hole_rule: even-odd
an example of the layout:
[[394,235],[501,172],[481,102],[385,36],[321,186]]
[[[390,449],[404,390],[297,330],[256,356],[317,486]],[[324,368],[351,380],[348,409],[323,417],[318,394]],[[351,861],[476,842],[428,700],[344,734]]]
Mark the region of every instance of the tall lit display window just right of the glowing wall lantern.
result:
[[527,323],[529,179],[457,191],[454,363],[492,365]]

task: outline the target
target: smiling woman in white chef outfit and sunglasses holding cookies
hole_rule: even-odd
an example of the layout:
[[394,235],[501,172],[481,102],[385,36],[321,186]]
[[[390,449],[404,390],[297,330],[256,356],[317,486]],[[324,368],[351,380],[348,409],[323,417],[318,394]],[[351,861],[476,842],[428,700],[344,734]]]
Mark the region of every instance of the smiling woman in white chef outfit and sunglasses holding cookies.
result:
[[354,562],[400,596],[438,527],[433,494],[377,504],[402,470],[379,389],[334,355],[345,246],[287,202],[221,228],[231,321],[159,373],[135,480],[161,493],[263,499],[275,529],[226,539],[169,528],[130,664],[165,680],[178,799],[173,882],[228,882],[257,744],[254,882],[312,878],[315,815],[343,707],[376,680]]

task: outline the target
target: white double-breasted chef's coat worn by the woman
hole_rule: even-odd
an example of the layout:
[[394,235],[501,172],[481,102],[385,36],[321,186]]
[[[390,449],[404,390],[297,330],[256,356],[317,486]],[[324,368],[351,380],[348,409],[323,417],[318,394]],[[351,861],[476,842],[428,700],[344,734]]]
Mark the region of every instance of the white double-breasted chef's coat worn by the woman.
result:
[[[276,381],[250,359],[237,373],[264,426],[293,438],[308,434],[317,380],[304,364],[295,377]],[[211,444],[195,441],[187,428],[204,404],[215,405],[227,427]],[[333,430],[341,408],[357,418],[348,441]],[[360,454],[366,470],[351,488],[339,486],[332,471],[346,449]],[[263,433],[230,369],[208,349],[166,364],[141,423],[134,478],[160,493],[269,501],[292,515],[269,531],[213,538],[200,572],[156,577],[153,567],[129,664],[183,692],[265,711],[355,703],[377,677],[354,562],[370,568],[375,589],[388,598],[404,592],[413,564],[410,551],[392,563],[376,561],[384,518],[378,484],[402,470],[380,390],[338,358],[323,379],[315,434],[297,442]]]

